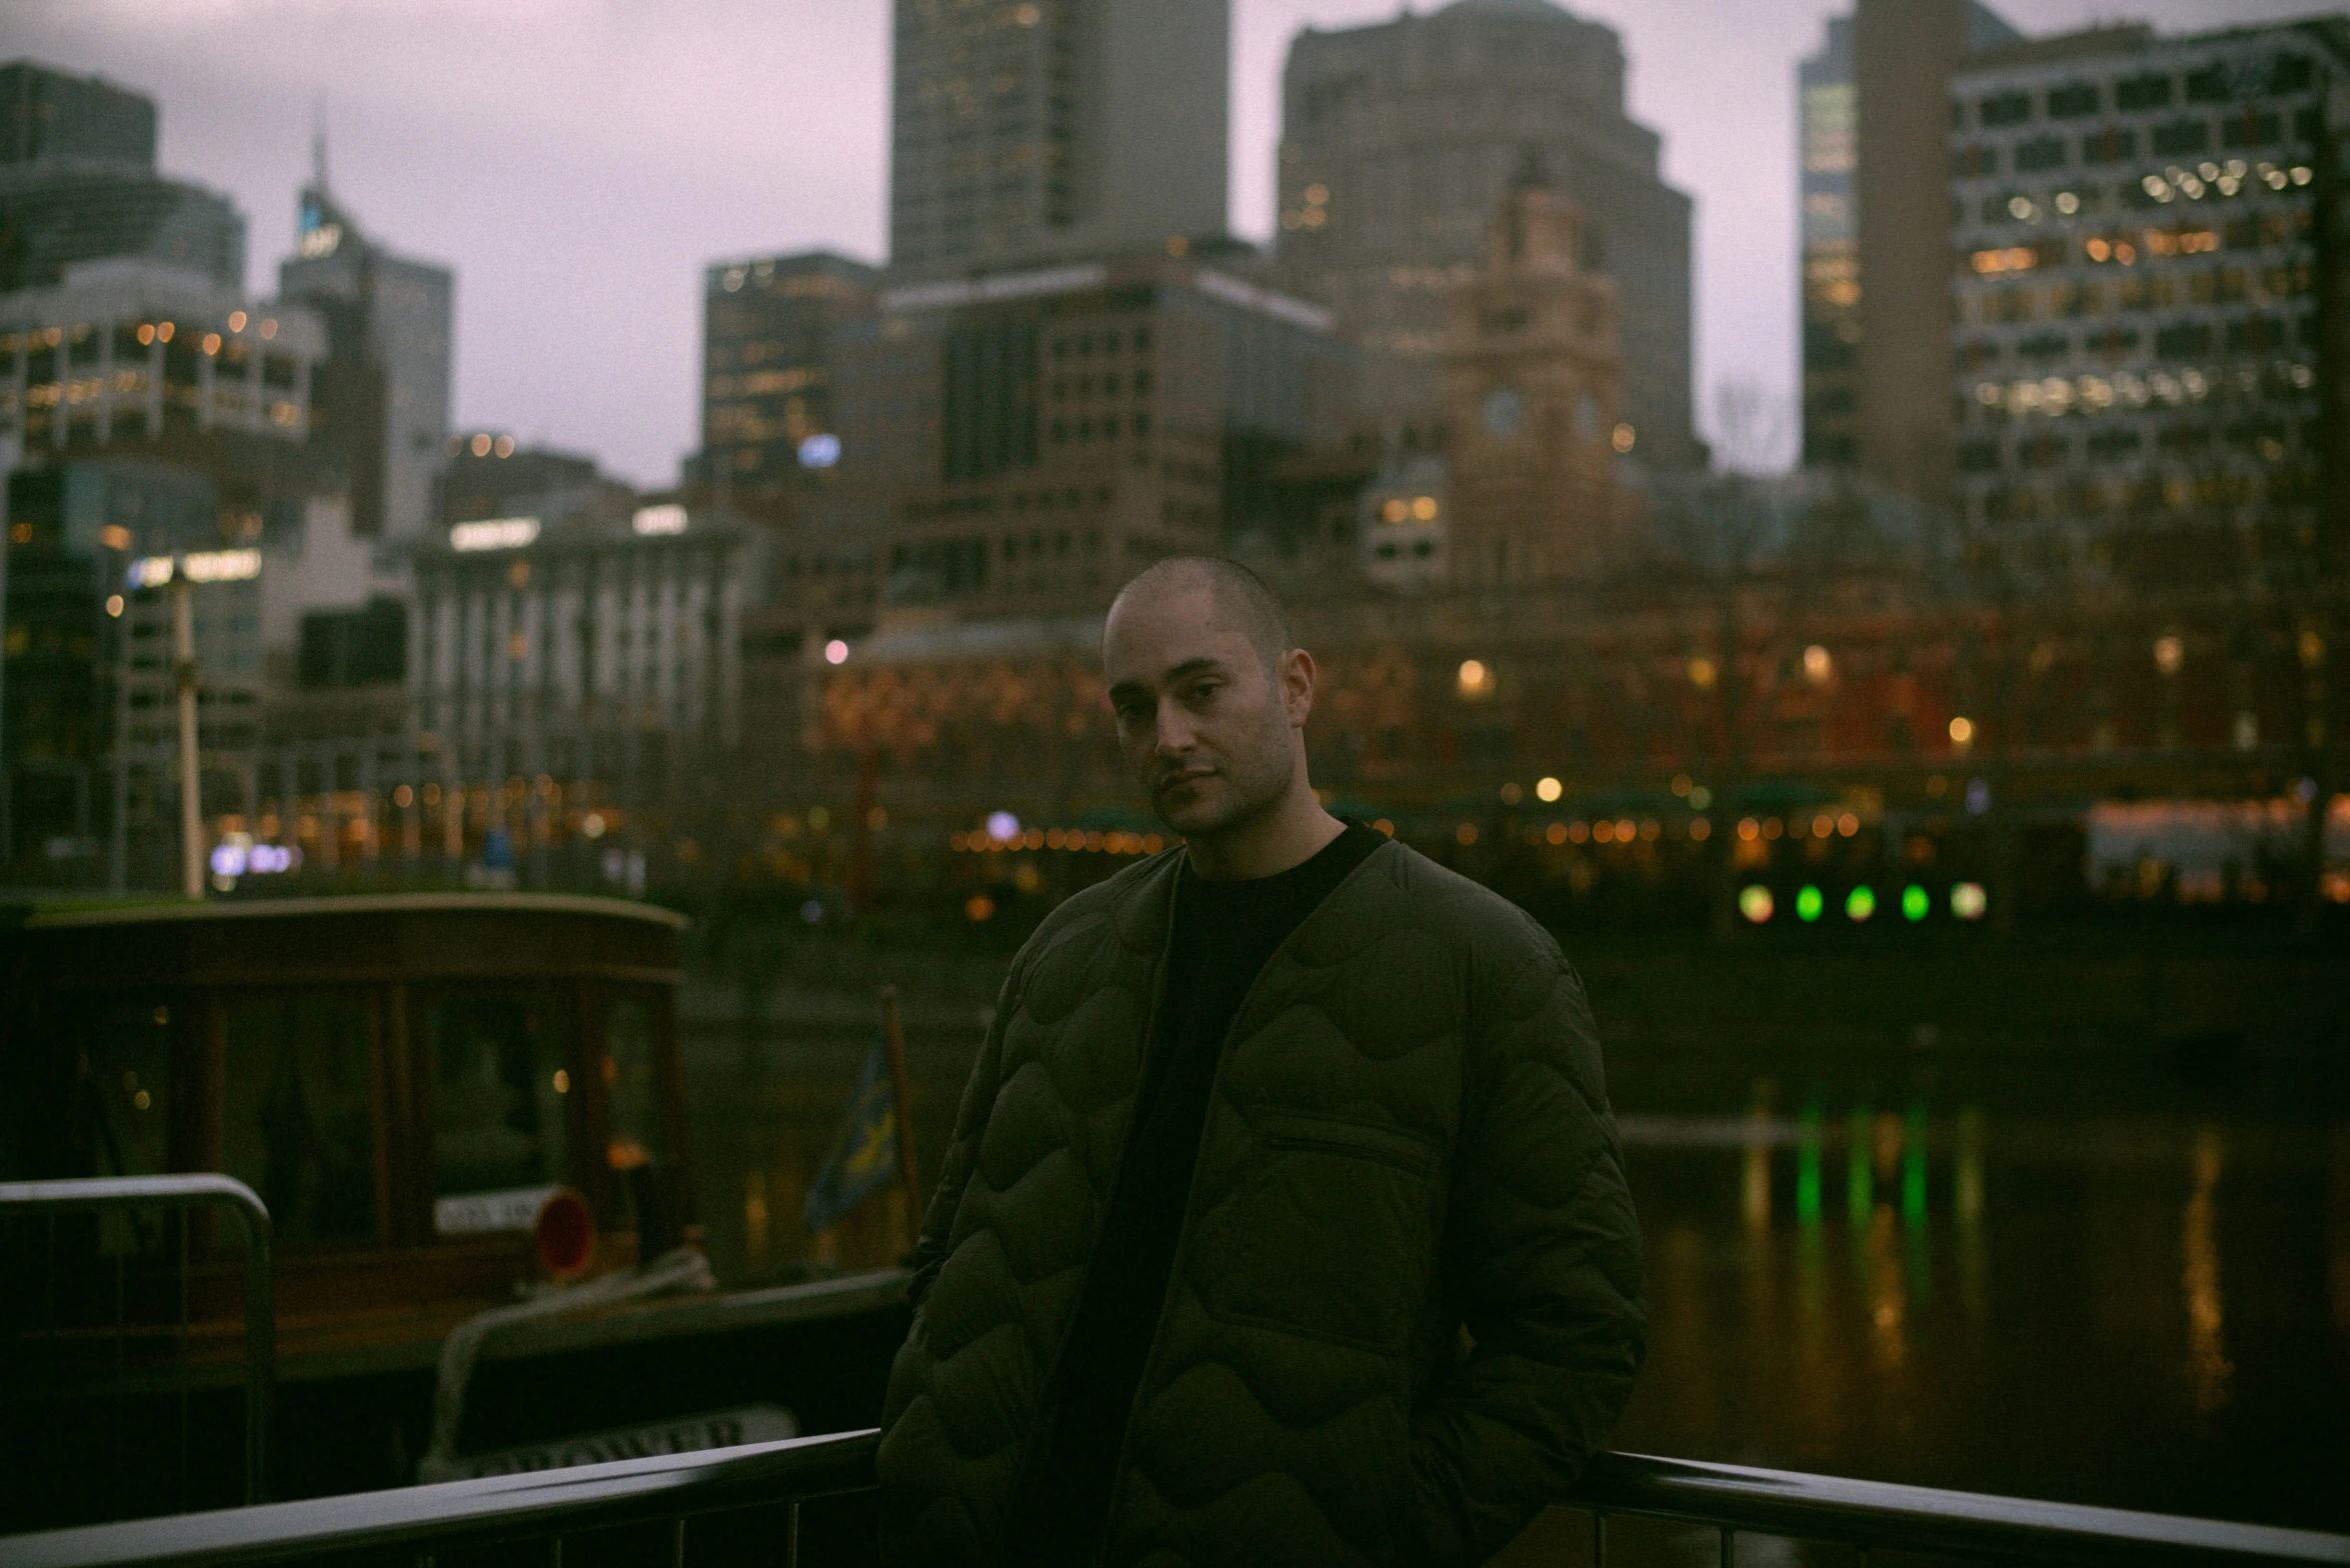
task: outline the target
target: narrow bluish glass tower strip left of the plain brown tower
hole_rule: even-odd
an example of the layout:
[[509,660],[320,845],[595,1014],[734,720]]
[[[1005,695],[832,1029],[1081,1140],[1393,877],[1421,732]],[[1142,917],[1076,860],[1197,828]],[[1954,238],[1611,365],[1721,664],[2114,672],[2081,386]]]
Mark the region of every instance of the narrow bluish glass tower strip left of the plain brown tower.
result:
[[1861,228],[1854,214],[1859,85],[1852,19],[1828,16],[1828,40],[1795,68],[1798,188],[1802,192],[1802,465],[1854,460],[1861,359]]

